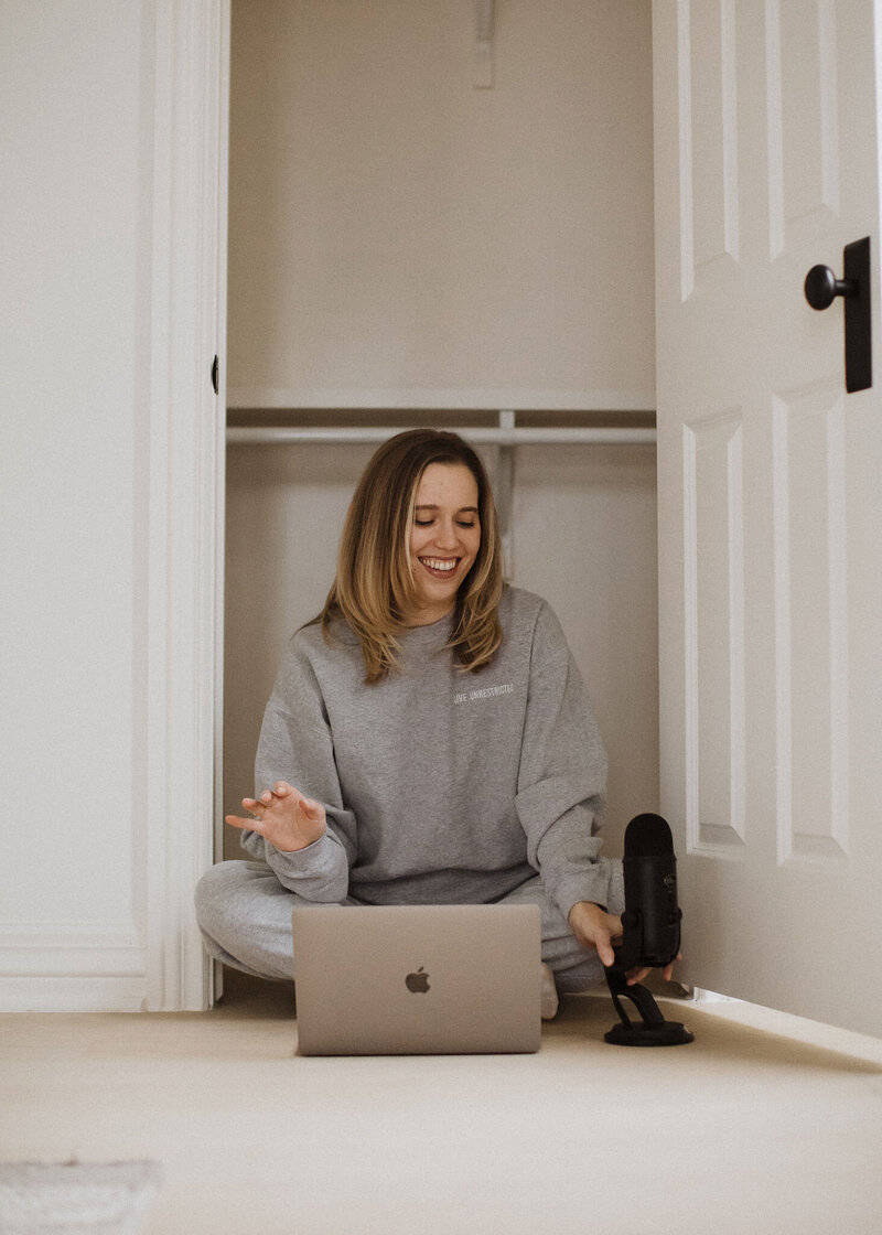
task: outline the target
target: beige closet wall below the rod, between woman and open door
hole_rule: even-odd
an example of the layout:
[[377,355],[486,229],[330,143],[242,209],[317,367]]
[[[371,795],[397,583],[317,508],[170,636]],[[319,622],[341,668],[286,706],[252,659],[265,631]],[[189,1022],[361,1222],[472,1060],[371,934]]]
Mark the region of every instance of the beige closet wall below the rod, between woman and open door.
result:
[[605,848],[658,810],[656,451],[525,448],[515,477],[514,582],[553,605],[609,753]]

